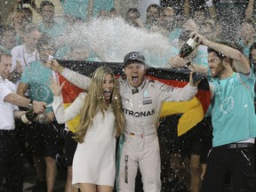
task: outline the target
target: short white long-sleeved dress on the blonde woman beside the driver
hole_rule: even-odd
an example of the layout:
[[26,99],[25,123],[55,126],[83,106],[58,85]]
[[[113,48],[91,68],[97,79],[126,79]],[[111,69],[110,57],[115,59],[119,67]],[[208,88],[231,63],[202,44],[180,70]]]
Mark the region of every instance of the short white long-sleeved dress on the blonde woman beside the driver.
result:
[[[59,123],[68,121],[68,116],[75,116],[81,112],[85,93],[80,93],[69,108],[62,108],[60,97],[54,97],[52,104],[56,119]],[[77,100],[80,105],[77,105]],[[72,107],[73,105],[73,107]],[[77,113],[76,113],[77,112]],[[68,113],[71,113],[68,115]],[[75,113],[75,114],[74,114]],[[116,174],[116,138],[115,116],[112,108],[93,119],[92,128],[85,134],[84,142],[78,143],[73,159],[72,184],[78,187],[79,183],[92,183],[114,187]],[[59,118],[59,120],[58,120]]]

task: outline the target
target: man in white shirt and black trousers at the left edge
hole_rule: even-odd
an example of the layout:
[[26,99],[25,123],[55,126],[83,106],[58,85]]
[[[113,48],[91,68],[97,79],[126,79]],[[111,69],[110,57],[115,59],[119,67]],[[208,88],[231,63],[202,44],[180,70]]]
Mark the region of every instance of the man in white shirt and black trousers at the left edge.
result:
[[5,180],[7,191],[21,192],[24,171],[20,146],[14,132],[14,118],[19,118],[26,111],[17,106],[34,109],[39,114],[44,112],[44,102],[29,100],[15,93],[15,86],[7,79],[12,68],[11,52],[0,50],[0,187]]

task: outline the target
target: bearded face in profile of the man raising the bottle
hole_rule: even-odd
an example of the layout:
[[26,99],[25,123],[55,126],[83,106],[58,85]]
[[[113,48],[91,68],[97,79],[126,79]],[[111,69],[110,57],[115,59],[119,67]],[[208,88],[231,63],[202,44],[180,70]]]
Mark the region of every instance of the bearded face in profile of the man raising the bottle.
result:
[[223,61],[217,57],[215,52],[209,52],[208,66],[211,69],[212,77],[220,77],[226,70],[226,68],[223,66]]

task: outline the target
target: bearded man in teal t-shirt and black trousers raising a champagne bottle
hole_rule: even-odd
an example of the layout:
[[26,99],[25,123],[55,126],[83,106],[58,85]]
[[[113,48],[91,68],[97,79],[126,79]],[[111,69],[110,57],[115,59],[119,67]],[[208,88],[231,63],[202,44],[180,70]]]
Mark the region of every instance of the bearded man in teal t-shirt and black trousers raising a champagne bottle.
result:
[[255,191],[255,76],[244,55],[232,48],[233,44],[213,43],[196,32],[190,36],[198,38],[198,44],[208,47],[209,66],[208,70],[193,64],[190,68],[198,72],[208,71],[212,76],[213,140],[201,191],[222,191],[227,173],[234,191]]

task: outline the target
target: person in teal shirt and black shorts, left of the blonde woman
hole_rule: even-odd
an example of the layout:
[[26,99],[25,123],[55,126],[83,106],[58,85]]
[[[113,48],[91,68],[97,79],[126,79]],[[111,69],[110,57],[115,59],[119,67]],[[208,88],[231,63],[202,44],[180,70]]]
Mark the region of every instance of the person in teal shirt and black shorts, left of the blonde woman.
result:
[[[31,100],[44,101],[51,106],[53,94],[47,84],[52,77],[52,70],[45,68],[44,63],[48,60],[49,54],[54,55],[56,48],[52,46],[52,39],[42,36],[38,40],[36,49],[40,60],[30,62],[25,68],[17,92],[24,96],[29,88]],[[60,125],[54,118],[52,107],[46,108],[44,115],[37,116],[36,122],[32,122],[28,129],[28,150],[33,155],[37,176],[34,190],[46,190],[47,187],[47,191],[52,191],[57,176],[55,156],[60,148]]]

